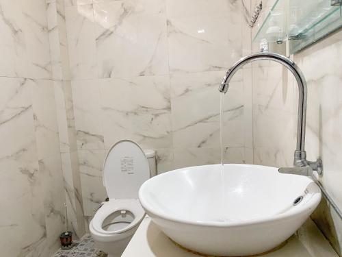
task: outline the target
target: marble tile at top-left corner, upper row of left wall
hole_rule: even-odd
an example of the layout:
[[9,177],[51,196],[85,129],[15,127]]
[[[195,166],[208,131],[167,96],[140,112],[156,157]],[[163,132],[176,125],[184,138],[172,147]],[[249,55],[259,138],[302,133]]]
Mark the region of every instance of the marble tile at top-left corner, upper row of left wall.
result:
[[46,3],[1,1],[0,75],[50,78],[49,32]]

